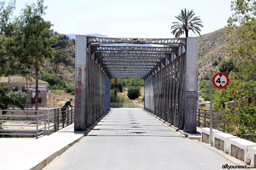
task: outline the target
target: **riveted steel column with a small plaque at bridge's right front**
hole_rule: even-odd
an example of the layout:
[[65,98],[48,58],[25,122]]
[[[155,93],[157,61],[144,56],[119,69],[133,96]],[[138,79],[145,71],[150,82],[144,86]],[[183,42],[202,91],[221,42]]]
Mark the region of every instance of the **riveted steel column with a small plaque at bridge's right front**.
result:
[[197,131],[197,38],[187,38],[186,42],[183,43],[186,43],[187,47],[185,75],[185,126],[183,131],[191,133]]

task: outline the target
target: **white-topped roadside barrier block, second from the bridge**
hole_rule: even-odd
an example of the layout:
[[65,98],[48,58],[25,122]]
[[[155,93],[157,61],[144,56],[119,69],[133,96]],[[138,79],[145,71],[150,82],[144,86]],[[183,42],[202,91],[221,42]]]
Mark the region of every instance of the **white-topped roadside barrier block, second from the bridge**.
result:
[[214,133],[213,134],[213,146],[224,151],[226,154],[229,153],[229,140],[232,138],[238,138],[236,136],[227,133]]

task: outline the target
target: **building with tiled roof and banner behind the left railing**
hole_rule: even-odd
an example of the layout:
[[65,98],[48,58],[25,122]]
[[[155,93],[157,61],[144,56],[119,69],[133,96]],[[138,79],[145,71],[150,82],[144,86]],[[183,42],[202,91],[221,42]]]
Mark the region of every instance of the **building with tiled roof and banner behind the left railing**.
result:
[[[8,87],[7,93],[19,90],[27,93],[28,102],[35,103],[35,78],[28,76],[26,80],[26,77],[9,75],[8,77],[0,77],[0,84]],[[48,85],[48,82],[38,80],[38,103],[47,103]]]

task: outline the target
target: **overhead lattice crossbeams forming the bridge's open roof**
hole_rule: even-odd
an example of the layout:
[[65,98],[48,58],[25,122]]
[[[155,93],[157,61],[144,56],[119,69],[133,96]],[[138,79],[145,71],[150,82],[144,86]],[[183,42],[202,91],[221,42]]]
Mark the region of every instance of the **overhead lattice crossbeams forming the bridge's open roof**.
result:
[[[110,79],[146,79],[185,52],[184,40],[87,36],[86,45],[91,57]],[[121,43],[137,45],[120,46]]]

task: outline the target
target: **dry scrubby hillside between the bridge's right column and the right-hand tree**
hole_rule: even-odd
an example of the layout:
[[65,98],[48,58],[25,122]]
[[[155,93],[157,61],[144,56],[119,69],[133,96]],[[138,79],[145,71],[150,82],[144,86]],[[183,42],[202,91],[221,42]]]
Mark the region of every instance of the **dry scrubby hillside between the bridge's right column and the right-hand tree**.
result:
[[218,65],[213,66],[215,59],[221,63],[229,55],[226,51],[226,28],[218,29],[214,32],[198,37],[198,73],[201,78],[205,74],[210,74],[210,69],[218,70]]

